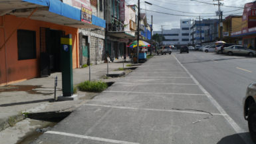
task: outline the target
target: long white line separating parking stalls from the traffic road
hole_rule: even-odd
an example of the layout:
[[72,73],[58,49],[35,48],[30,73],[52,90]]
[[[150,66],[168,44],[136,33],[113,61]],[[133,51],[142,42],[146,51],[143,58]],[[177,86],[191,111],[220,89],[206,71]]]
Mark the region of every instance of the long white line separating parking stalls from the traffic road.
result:
[[[174,56],[174,55],[172,55],[172,56]],[[193,75],[190,74],[190,72],[187,70],[187,68],[185,68],[185,66],[180,62],[180,60],[178,60],[178,58],[176,58],[176,56],[174,56],[174,58],[177,60],[177,62],[179,62],[179,64],[182,66],[182,68],[184,68],[184,70],[186,70],[186,72],[188,72],[188,74],[190,75],[192,80],[195,82],[195,84],[197,84],[199,86],[199,88],[203,91],[203,93],[207,96],[207,98],[209,98],[211,103],[219,110],[219,112],[225,117],[227,122],[231,125],[231,127],[233,127],[235,132],[243,139],[243,141],[245,141],[245,143],[251,143],[251,139],[249,137],[246,137],[245,135],[241,134],[241,133],[245,133],[247,131],[245,131],[244,129],[241,129],[241,127],[239,127],[239,125],[237,125],[237,123],[235,123],[235,121],[227,114],[227,112],[219,105],[219,103],[217,103],[217,101],[211,96],[211,94],[209,94],[209,92],[207,92],[207,90],[205,90],[205,88],[203,88],[203,86],[201,86],[201,84],[199,84],[199,82],[193,77]]]

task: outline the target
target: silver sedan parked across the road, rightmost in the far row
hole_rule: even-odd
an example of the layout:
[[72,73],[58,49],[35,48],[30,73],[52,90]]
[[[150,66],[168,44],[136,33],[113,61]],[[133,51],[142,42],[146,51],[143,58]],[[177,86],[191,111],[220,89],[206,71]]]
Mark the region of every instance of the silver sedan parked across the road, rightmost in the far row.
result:
[[232,56],[233,54],[243,54],[243,55],[248,55],[248,56],[255,56],[256,51],[251,50],[249,48],[245,48],[245,46],[242,46],[242,45],[233,45],[233,46],[224,48],[223,53],[228,54],[229,56]]

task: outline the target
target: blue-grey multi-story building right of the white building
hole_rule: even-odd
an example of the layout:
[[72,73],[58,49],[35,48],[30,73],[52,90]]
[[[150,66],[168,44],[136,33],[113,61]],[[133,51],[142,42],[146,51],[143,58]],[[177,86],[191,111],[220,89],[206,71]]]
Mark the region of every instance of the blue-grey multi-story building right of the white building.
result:
[[192,44],[200,44],[201,42],[211,42],[218,37],[218,19],[203,19],[201,21],[193,21],[190,33],[192,36]]

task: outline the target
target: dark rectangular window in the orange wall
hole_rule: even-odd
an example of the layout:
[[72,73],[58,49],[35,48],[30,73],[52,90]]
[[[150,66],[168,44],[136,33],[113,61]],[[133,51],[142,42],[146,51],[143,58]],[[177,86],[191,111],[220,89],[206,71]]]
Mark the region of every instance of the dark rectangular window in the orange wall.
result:
[[18,60],[37,58],[35,31],[17,31]]

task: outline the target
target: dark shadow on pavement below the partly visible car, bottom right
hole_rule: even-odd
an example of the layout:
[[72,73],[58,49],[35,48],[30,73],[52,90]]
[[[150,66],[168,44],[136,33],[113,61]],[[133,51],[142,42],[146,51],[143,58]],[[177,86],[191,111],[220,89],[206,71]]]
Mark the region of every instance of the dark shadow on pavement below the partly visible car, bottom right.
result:
[[[248,137],[249,141],[243,141],[242,137]],[[249,133],[237,133],[235,135],[229,135],[227,137],[223,137],[217,144],[243,144],[243,143],[248,143],[248,144],[253,144],[253,141],[251,141],[251,137]]]

